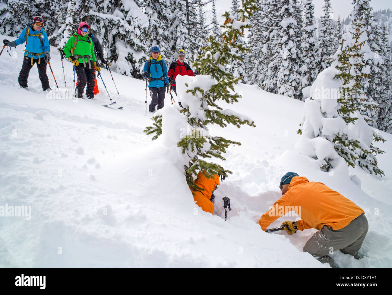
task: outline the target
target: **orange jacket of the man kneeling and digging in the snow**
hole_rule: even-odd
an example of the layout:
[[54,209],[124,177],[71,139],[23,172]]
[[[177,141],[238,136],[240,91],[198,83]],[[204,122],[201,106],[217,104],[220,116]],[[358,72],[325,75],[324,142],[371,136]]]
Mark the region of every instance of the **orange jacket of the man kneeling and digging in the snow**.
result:
[[306,177],[293,177],[287,192],[263,214],[258,221],[262,230],[289,211],[295,211],[301,220],[299,230],[327,225],[333,230],[347,226],[361,215],[363,210],[321,182],[309,182]]

